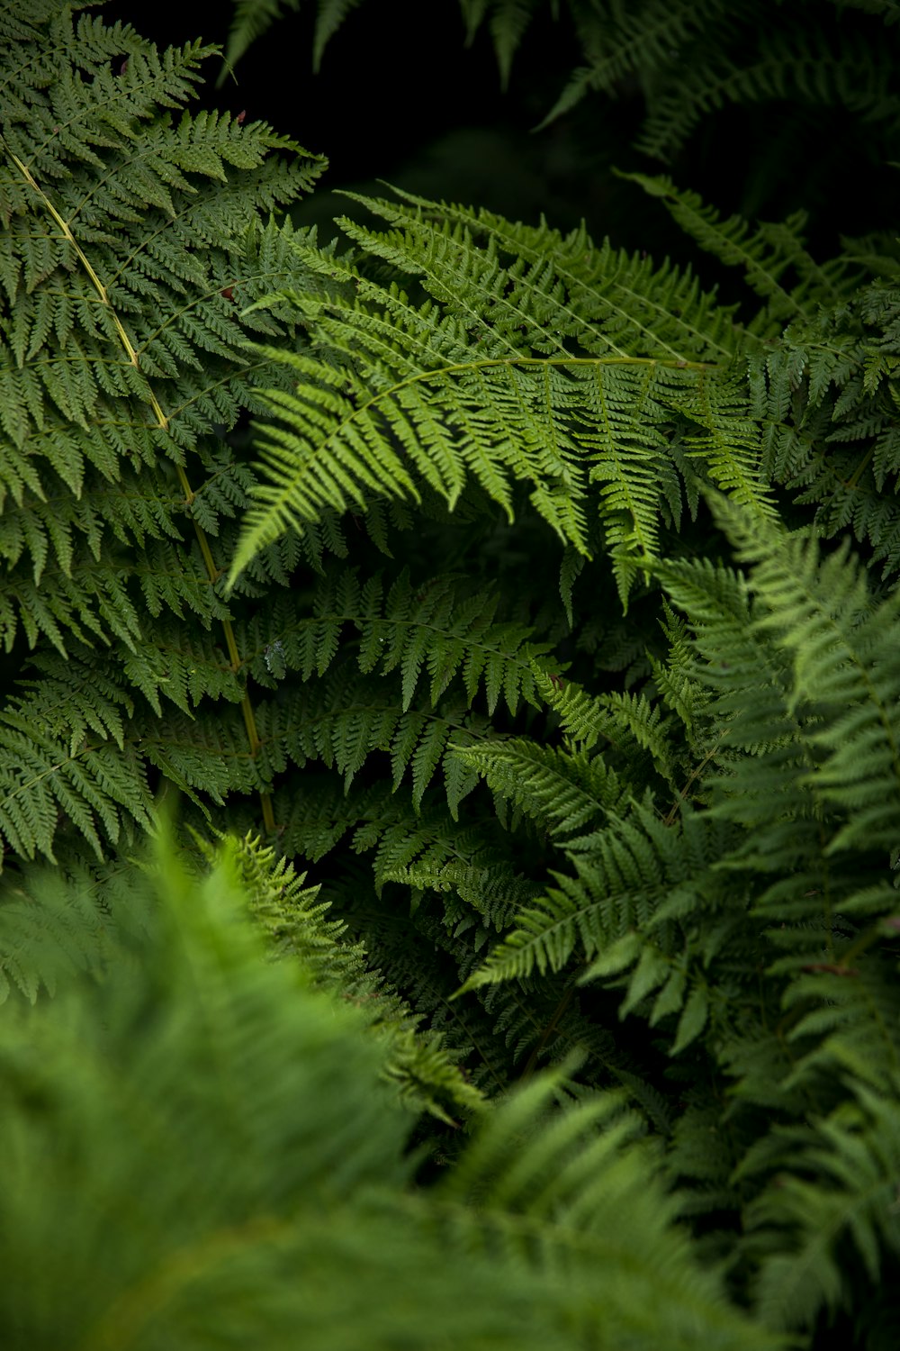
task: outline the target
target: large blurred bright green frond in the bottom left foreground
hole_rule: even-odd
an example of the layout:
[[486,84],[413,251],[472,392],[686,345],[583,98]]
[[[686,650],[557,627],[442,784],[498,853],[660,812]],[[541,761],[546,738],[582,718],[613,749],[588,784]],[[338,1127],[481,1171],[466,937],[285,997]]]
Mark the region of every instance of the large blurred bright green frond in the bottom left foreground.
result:
[[[285,963],[273,967],[260,961],[260,947],[248,928],[235,923],[240,890],[228,867],[217,869],[205,886],[194,886],[173,852],[166,855],[165,881],[158,884],[166,897],[167,921],[162,905],[151,907],[155,915],[150,935],[143,943],[131,943],[132,961],[121,963],[116,977],[94,985],[93,990],[90,985],[70,985],[65,996],[61,992],[43,1008],[4,1019],[0,1059],[11,1105],[4,1123],[4,1154],[16,1158],[16,1177],[15,1182],[12,1177],[4,1181],[7,1208],[0,1248],[12,1254],[12,1232],[19,1229],[22,1236],[30,1196],[31,1242],[43,1248],[49,1263],[43,1270],[51,1273],[57,1292],[50,1301],[39,1293],[34,1254],[19,1246],[16,1292],[7,1286],[3,1321],[26,1339],[42,1335],[39,1329],[57,1320],[67,1320],[69,1335],[77,1337],[107,1336],[104,1327],[113,1335],[113,1328],[123,1332],[125,1324],[128,1335],[143,1335],[143,1315],[131,1304],[135,1282],[142,1282],[148,1271],[167,1279],[165,1273],[173,1270],[173,1259],[178,1262],[177,1254],[188,1250],[216,1252],[213,1282],[221,1283],[223,1290],[233,1292],[235,1285],[247,1290],[250,1279],[256,1290],[252,1302],[259,1309],[259,1293],[263,1289],[274,1293],[282,1279],[278,1254],[287,1229],[279,1224],[273,1248],[273,1206],[282,1208],[282,1221],[290,1215],[290,1224],[298,1213],[285,1189],[304,1197],[302,1205],[316,1209],[309,1189],[318,1186],[325,1175],[331,1201],[337,1194],[336,1185],[348,1197],[370,1169],[381,1173],[382,1181],[393,1177],[397,1183],[403,1175],[402,1167],[397,1171],[403,1127],[385,1112],[385,1098],[375,1084],[379,1055],[371,1040],[360,1039],[352,1051],[348,1044],[347,1055],[339,1056],[343,1069],[337,1061],[331,1063],[329,1047],[336,1051],[347,1032],[352,1042],[356,1032],[351,1028],[359,1028],[358,1019],[321,994],[304,994]],[[225,913],[231,917],[225,919]],[[212,1050],[212,1042],[217,1051]],[[38,1132],[32,1106],[12,1089],[13,1081],[22,1086],[16,1065],[22,1066],[26,1046],[31,1066],[43,1063],[42,1094],[50,1093],[50,1116],[42,1117]],[[78,1058],[81,1067],[76,1069]],[[228,1066],[227,1073],[224,1078],[210,1075],[209,1085],[200,1089],[197,1070],[213,1061],[220,1069]],[[374,1116],[363,1123],[354,1113],[351,1128],[354,1136],[362,1132],[356,1139],[368,1135],[364,1158],[345,1133],[347,1098],[337,1090],[333,1071],[339,1078],[345,1073],[358,1089],[363,1082],[358,1075],[366,1077],[362,1097],[368,1106],[363,1113],[371,1111]],[[124,1127],[125,1102],[131,1104],[128,1111],[142,1104],[143,1131],[138,1135]],[[316,1104],[312,1112],[325,1127],[321,1136],[309,1117],[306,1124],[300,1123],[301,1102]],[[61,1146],[50,1173],[38,1163],[45,1148],[39,1136],[45,1131],[46,1139],[55,1138]],[[335,1132],[331,1144],[329,1132]],[[197,1163],[204,1161],[202,1167],[194,1169],[192,1163],[185,1169],[185,1148]],[[349,1169],[348,1148],[355,1155]],[[119,1189],[130,1173],[134,1183],[138,1152],[154,1159],[152,1186],[138,1190],[131,1186],[128,1204],[140,1223],[119,1227],[119,1220],[111,1219],[119,1213],[115,1198],[124,1196]],[[107,1197],[103,1227],[96,1217],[92,1220],[90,1208],[78,1205],[84,1193],[73,1185],[76,1155],[85,1170],[82,1178],[90,1179],[94,1201]],[[343,1183],[337,1183],[339,1174]],[[201,1177],[204,1182],[185,1204],[184,1181],[190,1175],[194,1182]],[[38,1200],[39,1186],[47,1194],[67,1196],[72,1202],[65,1223],[57,1224],[55,1236],[47,1220],[39,1219],[46,1216]],[[232,1239],[223,1250],[224,1232]],[[297,1235],[294,1244],[296,1239]],[[213,1247],[208,1248],[210,1242]],[[259,1270],[260,1258],[267,1266],[271,1263],[269,1277]],[[193,1340],[194,1317],[210,1294],[208,1281],[213,1269],[205,1262],[201,1267],[188,1288],[178,1282],[174,1302],[167,1302],[163,1335],[171,1344]],[[263,1300],[270,1305],[269,1296]],[[219,1297],[215,1302],[219,1306]],[[225,1324],[233,1328],[233,1319],[243,1320],[244,1315],[242,1294],[232,1310],[223,1315],[223,1328]],[[262,1335],[270,1344],[283,1342],[278,1331],[281,1316],[260,1310],[258,1317],[262,1319],[258,1329],[267,1329]],[[293,1331],[297,1332],[296,1323]]]

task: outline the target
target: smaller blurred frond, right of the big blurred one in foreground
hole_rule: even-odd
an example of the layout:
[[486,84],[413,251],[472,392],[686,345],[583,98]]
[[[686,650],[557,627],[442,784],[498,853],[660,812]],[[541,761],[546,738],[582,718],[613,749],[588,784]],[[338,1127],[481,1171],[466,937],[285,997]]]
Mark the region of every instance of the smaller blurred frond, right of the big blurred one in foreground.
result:
[[[640,1117],[623,1111],[618,1094],[594,1094],[548,1115],[560,1078],[536,1081],[486,1121],[437,1194],[449,1232],[459,1232],[455,1208],[476,1204],[479,1251],[529,1252],[538,1270],[561,1266],[573,1282],[575,1325],[590,1327],[602,1308],[610,1346],[661,1339],[687,1348],[698,1336],[704,1346],[753,1346],[760,1336],[765,1344],[768,1333],[723,1317],[715,1283],[694,1267],[673,1227],[676,1206],[660,1185],[654,1150],[640,1139]],[[519,1142],[515,1151],[510,1136]],[[551,1216],[551,1229],[541,1233],[541,1219]],[[598,1270],[606,1273],[599,1288]],[[660,1298],[667,1327],[653,1331]]]

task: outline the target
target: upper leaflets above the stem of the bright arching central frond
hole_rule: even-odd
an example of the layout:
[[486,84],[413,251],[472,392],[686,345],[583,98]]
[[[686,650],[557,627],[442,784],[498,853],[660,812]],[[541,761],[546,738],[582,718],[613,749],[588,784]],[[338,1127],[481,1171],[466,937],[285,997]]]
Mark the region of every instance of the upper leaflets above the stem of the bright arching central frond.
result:
[[563,235],[545,220],[528,226],[391,190],[397,201],[345,193],[385,219],[389,232],[347,218],[341,227],[366,253],[420,277],[491,355],[528,351],[524,336],[548,355],[571,351],[565,339],[576,339],[594,357],[673,363],[722,362],[741,347],[734,307],[719,305],[715,292],[668,259],[654,263],[609,239],[598,246],[584,226]]

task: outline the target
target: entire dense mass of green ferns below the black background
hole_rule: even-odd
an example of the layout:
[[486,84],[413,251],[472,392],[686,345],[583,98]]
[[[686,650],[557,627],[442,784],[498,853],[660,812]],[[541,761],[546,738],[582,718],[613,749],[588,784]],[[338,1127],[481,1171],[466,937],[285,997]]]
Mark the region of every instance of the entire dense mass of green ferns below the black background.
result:
[[212,49],[0,24],[12,1344],[892,1346],[889,243],[320,245]]

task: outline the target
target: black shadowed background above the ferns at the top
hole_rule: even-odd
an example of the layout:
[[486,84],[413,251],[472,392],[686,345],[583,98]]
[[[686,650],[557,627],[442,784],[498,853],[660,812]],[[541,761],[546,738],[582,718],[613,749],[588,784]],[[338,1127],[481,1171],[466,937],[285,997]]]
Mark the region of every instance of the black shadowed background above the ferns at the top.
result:
[[[877,19],[838,14],[828,4],[810,8],[837,50],[854,24],[869,34],[878,26]],[[209,4],[197,0],[165,9],[135,0],[104,7],[107,22],[128,22],[159,46],[202,38],[224,47],[231,16],[229,4],[210,16]],[[877,138],[866,153],[860,119],[846,109],[777,100],[726,108],[706,119],[672,163],[661,163],[631,149],[644,113],[631,77],[615,101],[590,95],[533,131],[584,59],[571,19],[563,14],[555,22],[549,7],[526,32],[507,92],[501,89],[487,28],[466,46],[457,0],[363,0],[331,41],[318,73],[314,20],[312,0],[300,14],[287,12],[220,88],[221,63],[212,58],[201,101],[246,111],[248,119],[269,122],[328,157],[320,189],[294,212],[298,223],[320,224],[321,236],[333,234],[333,216],[347,209],[336,189],[379,192],[376,180],[386,180],[511,219],[537,222],[544,213],[560,228],[584,219],[595,238],[609,235],[629,250],[698,262],[663,208],[615,178],[613,166],[669,173],[679,186],[700,192],[727,213],[779,220],[806,208],[819,257],[835,254],[842,234],[893,224],[896,174],[885,170]],[[703,274],[725,284],[725,299],[741,296],[739,284],[708,257]]]

